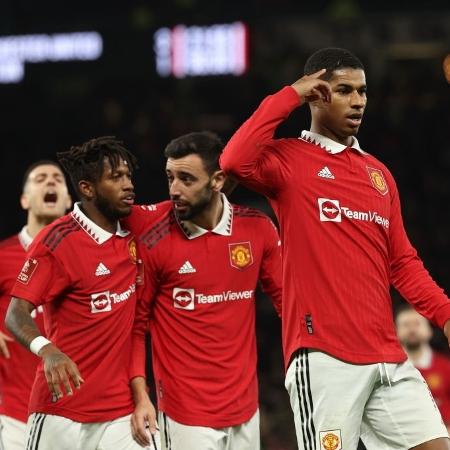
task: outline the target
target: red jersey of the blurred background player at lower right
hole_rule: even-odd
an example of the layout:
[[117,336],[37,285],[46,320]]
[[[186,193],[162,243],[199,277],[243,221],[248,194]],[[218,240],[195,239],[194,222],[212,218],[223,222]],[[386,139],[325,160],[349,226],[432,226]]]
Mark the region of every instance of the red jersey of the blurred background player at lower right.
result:
[[416,368],[425,378],[442,419],[450,425],[450,359],[428,349]]

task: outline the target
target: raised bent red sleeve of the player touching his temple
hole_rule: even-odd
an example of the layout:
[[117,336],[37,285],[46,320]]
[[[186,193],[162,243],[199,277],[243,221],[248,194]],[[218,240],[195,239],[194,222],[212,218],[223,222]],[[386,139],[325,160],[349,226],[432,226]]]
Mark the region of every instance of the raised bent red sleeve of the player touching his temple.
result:
[[289,166],[274,151],[278,125],[300,105],[295,90],[286,86],[265,98],[253,115],[236,131],[220,158],[225,173],[268,197],[281,188]]

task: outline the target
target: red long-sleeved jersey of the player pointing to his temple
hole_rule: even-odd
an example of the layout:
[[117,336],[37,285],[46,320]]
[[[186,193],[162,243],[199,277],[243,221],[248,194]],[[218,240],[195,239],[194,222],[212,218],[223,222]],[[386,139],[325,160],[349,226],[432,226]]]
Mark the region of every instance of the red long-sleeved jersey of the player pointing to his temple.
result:
[[356,139],[274,139],[298,106],[290,86],[267,97],[221,157],[226,173],[269,198],[280,223],[286,366],[300,347],[351,363],[403,361],[390,285],[441,327],[449,299],[408,240],[391,173]]

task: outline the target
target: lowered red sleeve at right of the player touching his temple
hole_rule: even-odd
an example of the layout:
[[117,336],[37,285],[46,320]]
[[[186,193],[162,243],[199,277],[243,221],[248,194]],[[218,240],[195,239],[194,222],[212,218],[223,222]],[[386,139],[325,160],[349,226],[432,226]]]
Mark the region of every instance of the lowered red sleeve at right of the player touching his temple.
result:
[[400,199],[392,179],[390,233],[391,284],[427,319],[443,328],[450,320],[450,301],[431,278],[403,226]]

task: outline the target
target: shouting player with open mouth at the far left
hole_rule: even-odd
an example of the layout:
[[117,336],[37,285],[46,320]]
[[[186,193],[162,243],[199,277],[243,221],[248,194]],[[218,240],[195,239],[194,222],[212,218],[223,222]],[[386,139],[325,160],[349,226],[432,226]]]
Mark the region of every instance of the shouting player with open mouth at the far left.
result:
[[[54,161],[30,165],[23,178],[22,208],[27,223],[22,230],[0,242],[0,448],[23,450],[28,400],[39,358],[14,341],[3,327],[10,292],[34,237],[45,225],[65,214],[71,206],[66,180]],[[42,308],[33,311],[44,332]]]

